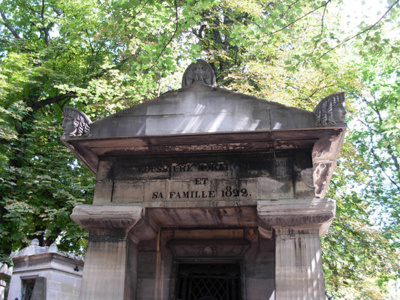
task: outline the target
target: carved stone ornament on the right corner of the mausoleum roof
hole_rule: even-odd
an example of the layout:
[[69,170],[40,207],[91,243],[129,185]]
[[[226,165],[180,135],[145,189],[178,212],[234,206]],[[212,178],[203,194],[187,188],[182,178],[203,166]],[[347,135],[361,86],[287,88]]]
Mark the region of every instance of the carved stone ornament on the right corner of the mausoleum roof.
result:
[[344,108],[344,93],[332,94],[314,109],[316,127],[343,127],[346,125],[346,109]]

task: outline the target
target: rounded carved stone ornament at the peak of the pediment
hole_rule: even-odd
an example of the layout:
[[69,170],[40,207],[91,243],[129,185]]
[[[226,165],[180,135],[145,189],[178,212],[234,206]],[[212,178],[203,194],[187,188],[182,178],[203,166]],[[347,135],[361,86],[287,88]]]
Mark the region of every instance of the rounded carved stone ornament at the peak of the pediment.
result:
[[215,86],[215,73],[213,68],[204,60],[198,59],[196,63],[190,64],[182,78],[182,87],[188,87],[195,83],[203,83]]

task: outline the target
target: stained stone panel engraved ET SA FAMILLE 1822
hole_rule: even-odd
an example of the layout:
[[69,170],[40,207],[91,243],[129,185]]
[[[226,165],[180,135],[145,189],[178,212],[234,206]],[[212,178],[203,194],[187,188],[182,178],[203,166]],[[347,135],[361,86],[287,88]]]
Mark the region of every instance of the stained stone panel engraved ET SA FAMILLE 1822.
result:
[[153,157],[116,162],[115,203],[209,201],[251,203],[266,198],[293,198],[293,159],[269,154],[246,156]]

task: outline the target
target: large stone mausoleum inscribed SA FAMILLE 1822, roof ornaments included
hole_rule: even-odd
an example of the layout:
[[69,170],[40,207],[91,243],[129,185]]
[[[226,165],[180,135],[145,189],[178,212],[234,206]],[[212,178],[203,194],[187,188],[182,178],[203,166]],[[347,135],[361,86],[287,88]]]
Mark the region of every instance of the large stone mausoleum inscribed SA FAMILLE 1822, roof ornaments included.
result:
[[63,142],[95,175],[80,299],[324,299],[320,236],[346,124],[344,94],[304,111],[215,86],[198,60],[182,89]]

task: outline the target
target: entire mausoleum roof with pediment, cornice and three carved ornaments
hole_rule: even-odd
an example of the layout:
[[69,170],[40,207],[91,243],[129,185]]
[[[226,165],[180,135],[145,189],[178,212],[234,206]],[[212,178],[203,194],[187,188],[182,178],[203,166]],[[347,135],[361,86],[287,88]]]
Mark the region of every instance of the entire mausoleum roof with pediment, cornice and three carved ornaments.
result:
[[61,139],[93,173],[100,156],[311,149],[322,137],[343,139],[344,93],[305,111],[216,87],[201,60],[182,86],[95,122],[66,107]]

